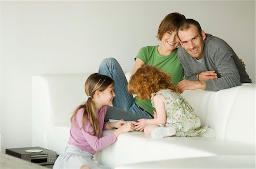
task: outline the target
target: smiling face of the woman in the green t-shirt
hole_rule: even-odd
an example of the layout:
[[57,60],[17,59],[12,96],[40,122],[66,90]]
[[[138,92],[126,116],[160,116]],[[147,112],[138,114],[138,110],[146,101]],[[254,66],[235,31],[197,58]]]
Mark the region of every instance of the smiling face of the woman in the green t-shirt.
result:
[[165,47],[167,50],[175,50],[177,47],[179,47],[179,37],[177,37],[176,31],[168,31],[164,33],[161,45]]

